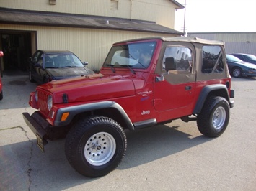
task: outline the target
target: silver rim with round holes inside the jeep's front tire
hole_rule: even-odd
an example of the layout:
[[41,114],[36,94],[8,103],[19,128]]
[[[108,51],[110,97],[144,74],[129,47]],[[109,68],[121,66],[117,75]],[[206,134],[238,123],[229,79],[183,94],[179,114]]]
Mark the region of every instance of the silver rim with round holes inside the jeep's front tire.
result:
[[100,132],[91,136],[84,147],[84,157],[89,164],[106,164],[115,154],[116,143],[112,135]]

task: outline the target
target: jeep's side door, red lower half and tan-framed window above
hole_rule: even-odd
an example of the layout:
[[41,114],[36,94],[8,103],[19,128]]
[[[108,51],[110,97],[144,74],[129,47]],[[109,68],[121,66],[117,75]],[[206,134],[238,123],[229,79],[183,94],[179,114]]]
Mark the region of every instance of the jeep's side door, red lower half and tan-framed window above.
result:
[[[163,78],[154,83],[154,108],[167,112],[167,118],[191,113],[195,92],[194,55],[195,48],[188,42],[168,42],[165,45],[158,63],[162,65]],[[173,62],[171,69],[166,68],[169,60]]]

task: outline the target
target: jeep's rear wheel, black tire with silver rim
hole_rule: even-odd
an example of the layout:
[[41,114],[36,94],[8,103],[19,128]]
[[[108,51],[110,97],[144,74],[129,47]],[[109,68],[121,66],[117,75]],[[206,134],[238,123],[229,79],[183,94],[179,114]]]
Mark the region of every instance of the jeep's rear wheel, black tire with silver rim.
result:
[[198,130],[209,137],[224,133],[229,124],[229,103],[223,97],[209,97],[198,114]]

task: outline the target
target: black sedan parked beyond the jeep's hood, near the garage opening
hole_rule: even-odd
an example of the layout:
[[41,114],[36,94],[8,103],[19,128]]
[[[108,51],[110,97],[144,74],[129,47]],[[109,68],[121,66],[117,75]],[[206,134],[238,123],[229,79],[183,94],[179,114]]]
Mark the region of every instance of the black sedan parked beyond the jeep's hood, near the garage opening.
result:
[[37,50],[28,64],[30,82],[40,84],[94,73],[73,52],[66,50]]

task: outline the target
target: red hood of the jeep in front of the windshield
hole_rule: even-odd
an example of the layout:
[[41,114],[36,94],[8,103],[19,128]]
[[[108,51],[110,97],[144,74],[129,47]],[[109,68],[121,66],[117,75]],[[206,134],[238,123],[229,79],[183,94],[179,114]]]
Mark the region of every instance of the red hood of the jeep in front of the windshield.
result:
[[84,77],[67,80],[56,80],[37,87],[53,94],[54,103],[63,103],[63,95],[68,96],[68,102],[85,102],[110,100],[135,95],[131,78],[121,75],[104,76],[101,74],[86,75]]

